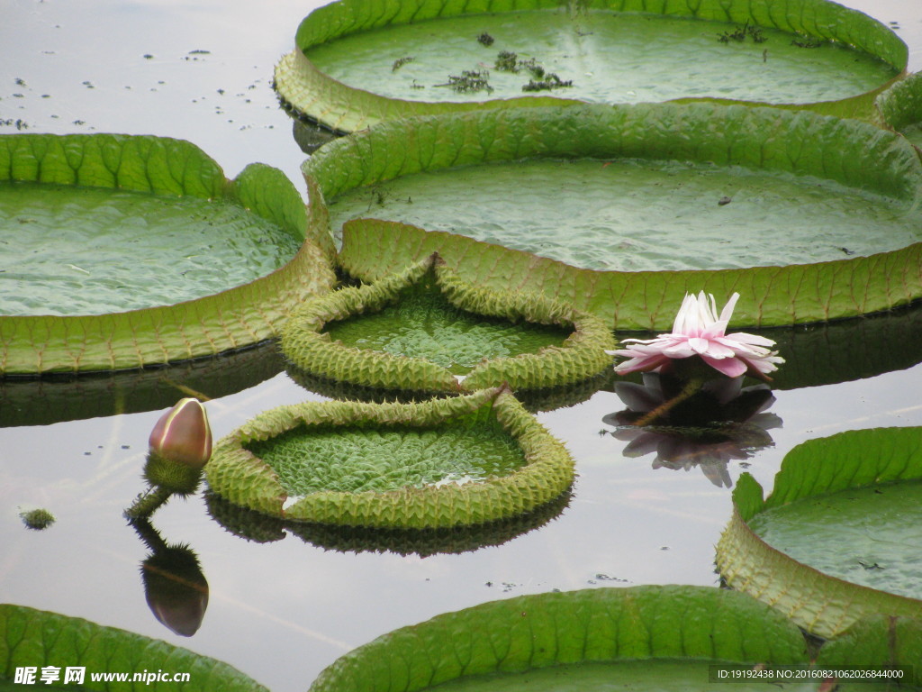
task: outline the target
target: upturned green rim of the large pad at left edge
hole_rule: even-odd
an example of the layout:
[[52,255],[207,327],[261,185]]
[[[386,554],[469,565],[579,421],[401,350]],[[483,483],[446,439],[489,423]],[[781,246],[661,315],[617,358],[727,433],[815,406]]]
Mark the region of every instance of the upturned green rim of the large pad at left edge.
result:
[[221,198],[301,241],[264,277],[204,298],[93,316],[0,316],[0,376],[112,371],[251,346],[276,335],[290,307],[332,289],[301,195],[278,169],[247,166],[233,181],[187,141],[146,135],[0,136],[0,182],[28,181]]

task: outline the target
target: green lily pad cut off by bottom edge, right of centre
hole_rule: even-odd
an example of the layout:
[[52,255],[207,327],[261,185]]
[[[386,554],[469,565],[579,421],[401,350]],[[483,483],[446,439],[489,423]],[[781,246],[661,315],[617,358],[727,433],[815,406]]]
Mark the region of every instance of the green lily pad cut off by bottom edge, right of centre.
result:
[[710,689],[712,664],[806,662],[798,628],[743,594],[640,586],[520,596],[437,615],[349,652],[310,689]]

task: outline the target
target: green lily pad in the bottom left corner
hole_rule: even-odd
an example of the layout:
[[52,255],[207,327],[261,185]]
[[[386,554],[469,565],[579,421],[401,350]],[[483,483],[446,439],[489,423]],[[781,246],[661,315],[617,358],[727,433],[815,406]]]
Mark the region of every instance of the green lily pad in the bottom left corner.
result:
[[[0,687],[5,682],[10,689],[18,669],[32,668],[35,681],[42,685],[45,666],[58,668],[58,684],[65,681],[66,669],[84,669],[83,684],[65,685],[67,689],[113,690],[133,689],[176,690],[183,684],[172,680],[172,674],[188,674],[187,688],[202,692],[266,692],[259,685],[224,662],[201,656],[193,651],[144,637],[124,629],[97,625],[79,617],[35,610],[23,605],[0,605]],[[92,680],[91,674],[152,674],[165,673],[169,680],[139,678],[132,683]],[[30,685],[27,685],[27,687]],[[55,685],[57,688],[58,685]]]

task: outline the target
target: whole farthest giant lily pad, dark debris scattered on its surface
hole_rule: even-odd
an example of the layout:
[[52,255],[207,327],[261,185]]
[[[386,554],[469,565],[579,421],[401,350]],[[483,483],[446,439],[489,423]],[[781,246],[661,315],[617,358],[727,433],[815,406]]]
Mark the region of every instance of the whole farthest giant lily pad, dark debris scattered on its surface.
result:
[[[553,101],[710,99],[869,116],[900,74],[891,30],[826,0],[340,0],[276,67],[284,103],[340,132]],[[693,69],[689,66],[693,65]]]

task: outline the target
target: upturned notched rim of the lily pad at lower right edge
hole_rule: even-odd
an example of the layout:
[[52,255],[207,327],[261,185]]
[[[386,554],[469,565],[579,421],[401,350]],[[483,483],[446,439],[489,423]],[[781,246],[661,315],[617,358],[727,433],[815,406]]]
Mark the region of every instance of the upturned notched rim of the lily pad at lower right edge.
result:
[[[820,458],[817,458],[820,455]],[[877,614],[922,617],[922,601],[827,575],[765,543],[749,521],[762,511],[814,495],[922,478],[922,428],[853,430],[809,440],[786,455],[772,495],[749,473],[733,491],[733,514],[716,547],[727,584],[769,603],[798,626],[837,637]]]

